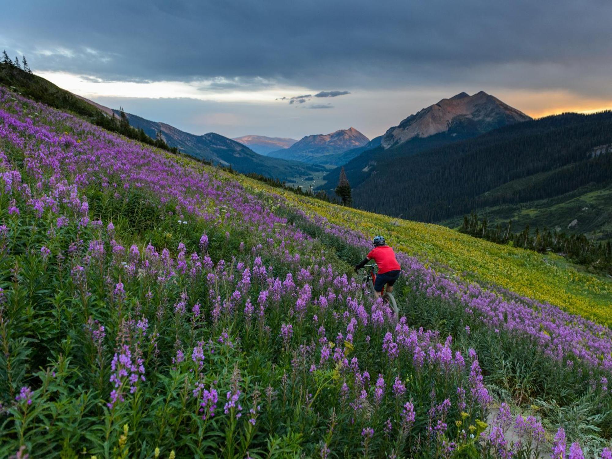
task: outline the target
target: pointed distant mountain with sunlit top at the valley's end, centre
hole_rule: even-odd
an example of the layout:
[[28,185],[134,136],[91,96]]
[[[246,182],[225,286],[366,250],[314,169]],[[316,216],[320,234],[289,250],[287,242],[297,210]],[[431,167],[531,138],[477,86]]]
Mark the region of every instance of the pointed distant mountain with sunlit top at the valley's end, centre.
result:
[[269,153],[275,158],[302,161],[308,164],[338,165],[340,155],[370,141],[354,127],[329,134],[307,135],[287,149]]

